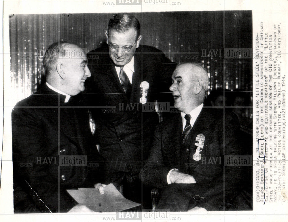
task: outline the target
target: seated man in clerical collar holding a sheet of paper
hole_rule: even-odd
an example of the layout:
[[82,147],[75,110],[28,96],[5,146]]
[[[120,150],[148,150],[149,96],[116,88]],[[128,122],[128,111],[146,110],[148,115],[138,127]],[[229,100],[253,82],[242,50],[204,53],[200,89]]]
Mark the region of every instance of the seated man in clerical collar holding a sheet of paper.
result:
[[[47,82],[12,111],[14,212],[92,212],[66,191],[93,187],[97,180],[96,168],[87,167],[87,156],[100,159],[88,110],[75,108],[73,99],[90,77],[86,54],[57,42],[43,66]],[[104,193],[100,183],[94,186]]]

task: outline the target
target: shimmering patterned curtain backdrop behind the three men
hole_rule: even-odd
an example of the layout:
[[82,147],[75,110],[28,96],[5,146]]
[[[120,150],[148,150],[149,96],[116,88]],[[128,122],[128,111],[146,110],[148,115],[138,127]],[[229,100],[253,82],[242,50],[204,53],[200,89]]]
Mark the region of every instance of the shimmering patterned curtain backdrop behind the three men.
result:
[[[210,90],[252,91],[252,60],[223,59],[224,48],[252,48],[251,11],[132,14],[141,23],[142,44],[162,50],[177,63],[202,63],[209,73]],[[63,40],[88,51],[98,48],[106,42],[105,29],[112,15],[11,15],[13,99],[26,98],[41,84],[43,52],[50,44]]]

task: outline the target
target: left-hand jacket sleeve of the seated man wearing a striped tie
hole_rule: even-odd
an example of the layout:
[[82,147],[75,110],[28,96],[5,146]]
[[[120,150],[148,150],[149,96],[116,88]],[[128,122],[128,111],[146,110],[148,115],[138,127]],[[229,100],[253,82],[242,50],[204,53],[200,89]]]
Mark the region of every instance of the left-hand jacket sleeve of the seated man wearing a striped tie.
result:
[[156,127],[151,153],[142,170],[142,181],[152,187],[164,188],[168,185],[167,174],[171,168],[164,165],[161,149],[161,124]]

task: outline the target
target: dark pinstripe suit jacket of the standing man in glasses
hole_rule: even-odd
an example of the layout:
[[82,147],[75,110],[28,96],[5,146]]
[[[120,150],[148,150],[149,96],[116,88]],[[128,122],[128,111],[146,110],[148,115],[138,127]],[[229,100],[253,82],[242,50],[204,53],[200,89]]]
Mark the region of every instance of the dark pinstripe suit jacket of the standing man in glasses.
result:
[[141,112],[140,84],[142,81],[149,83],[147,101],[169,101],[168,98],[172,98],[170,79],[176,64],[162,51],[140,45],[134,54],[135,72],[131,93],[127,95],[107,45],[92,50],[87,57],[92,75],[86,81],[88,105],[101,106],[92,108],[91,113],[96,121],[95,135],[101,146],[100,154],[107,160],[105,166],[136,174],[140,171],[141,161],[147,158],[151,137],[159,122],[156,112]]

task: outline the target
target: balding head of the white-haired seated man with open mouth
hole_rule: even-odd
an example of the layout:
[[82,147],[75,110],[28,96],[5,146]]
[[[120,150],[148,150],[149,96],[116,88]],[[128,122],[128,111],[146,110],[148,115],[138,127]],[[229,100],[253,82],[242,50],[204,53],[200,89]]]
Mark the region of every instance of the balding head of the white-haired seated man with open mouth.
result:
[[173,93],[175,107],[184,113],[190,113],[204,102],[209,86],[206,70],[197,63],[179,64],[173,75],[170,90]]

